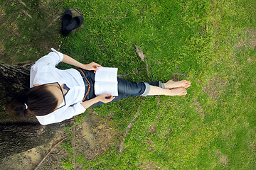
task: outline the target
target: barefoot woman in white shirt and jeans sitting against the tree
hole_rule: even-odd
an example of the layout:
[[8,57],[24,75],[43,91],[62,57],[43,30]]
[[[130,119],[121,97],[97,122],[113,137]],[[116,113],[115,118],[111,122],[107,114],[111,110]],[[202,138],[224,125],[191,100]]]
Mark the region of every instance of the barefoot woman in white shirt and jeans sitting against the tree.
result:
[[[84,113],[86,108],[132,96],[181,96],[186,95],[189,81],[132,83],[117,78],[118,96],[95,95],[95,72],[100,64],[82,64],[68,55],[52,49],[31,67],[30,87],[26,95],[18,98],[9,107],[16,115],[35,115],[41,125],[59,123]],[[57,69],[59,62],[79,69]]]

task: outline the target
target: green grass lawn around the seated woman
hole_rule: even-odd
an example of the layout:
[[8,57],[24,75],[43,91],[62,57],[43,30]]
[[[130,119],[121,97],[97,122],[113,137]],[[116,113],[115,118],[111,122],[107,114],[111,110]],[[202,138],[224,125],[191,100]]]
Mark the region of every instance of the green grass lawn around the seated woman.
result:
[[[53,21],[66,8],[77,8],[83,25],[66,38],[47,22],[33,23],[28,32],[29,25],[23,28],[19,20],[32,20],[23,13],[9,28],[21,30],[20,35],[0,33],[0,51],[9,56],[1,60],[36,60],[47,47],[55,47],[80,62],[118,67],[129,81],[192,83],[186,96],[127,98],[93,108],[111,120],[119,135],[115,145],[95,159],[76,155],[76,164],[83,169],[256,168],[255,0],[43,2],[53,10],[48,13]],[[5,3],[29,11],[18,2]],[[40,13],[44,7],[35,8]],[[32,10],[32,18],[46,17],[46,12]],[[1,18],[8,21],[9,14]],[[35,36],[45,42],[43,47]],[[148,71],[134,45],[144,51]],[[63,166],[72,169],[72,164]]]

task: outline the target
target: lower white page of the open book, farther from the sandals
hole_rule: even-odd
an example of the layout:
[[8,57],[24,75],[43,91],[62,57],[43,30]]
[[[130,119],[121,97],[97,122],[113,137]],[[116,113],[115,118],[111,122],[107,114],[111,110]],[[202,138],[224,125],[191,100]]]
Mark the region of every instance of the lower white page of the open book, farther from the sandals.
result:
[[118,96],[117,82],[95,82],[95,95],[111,94],[112,96]]

